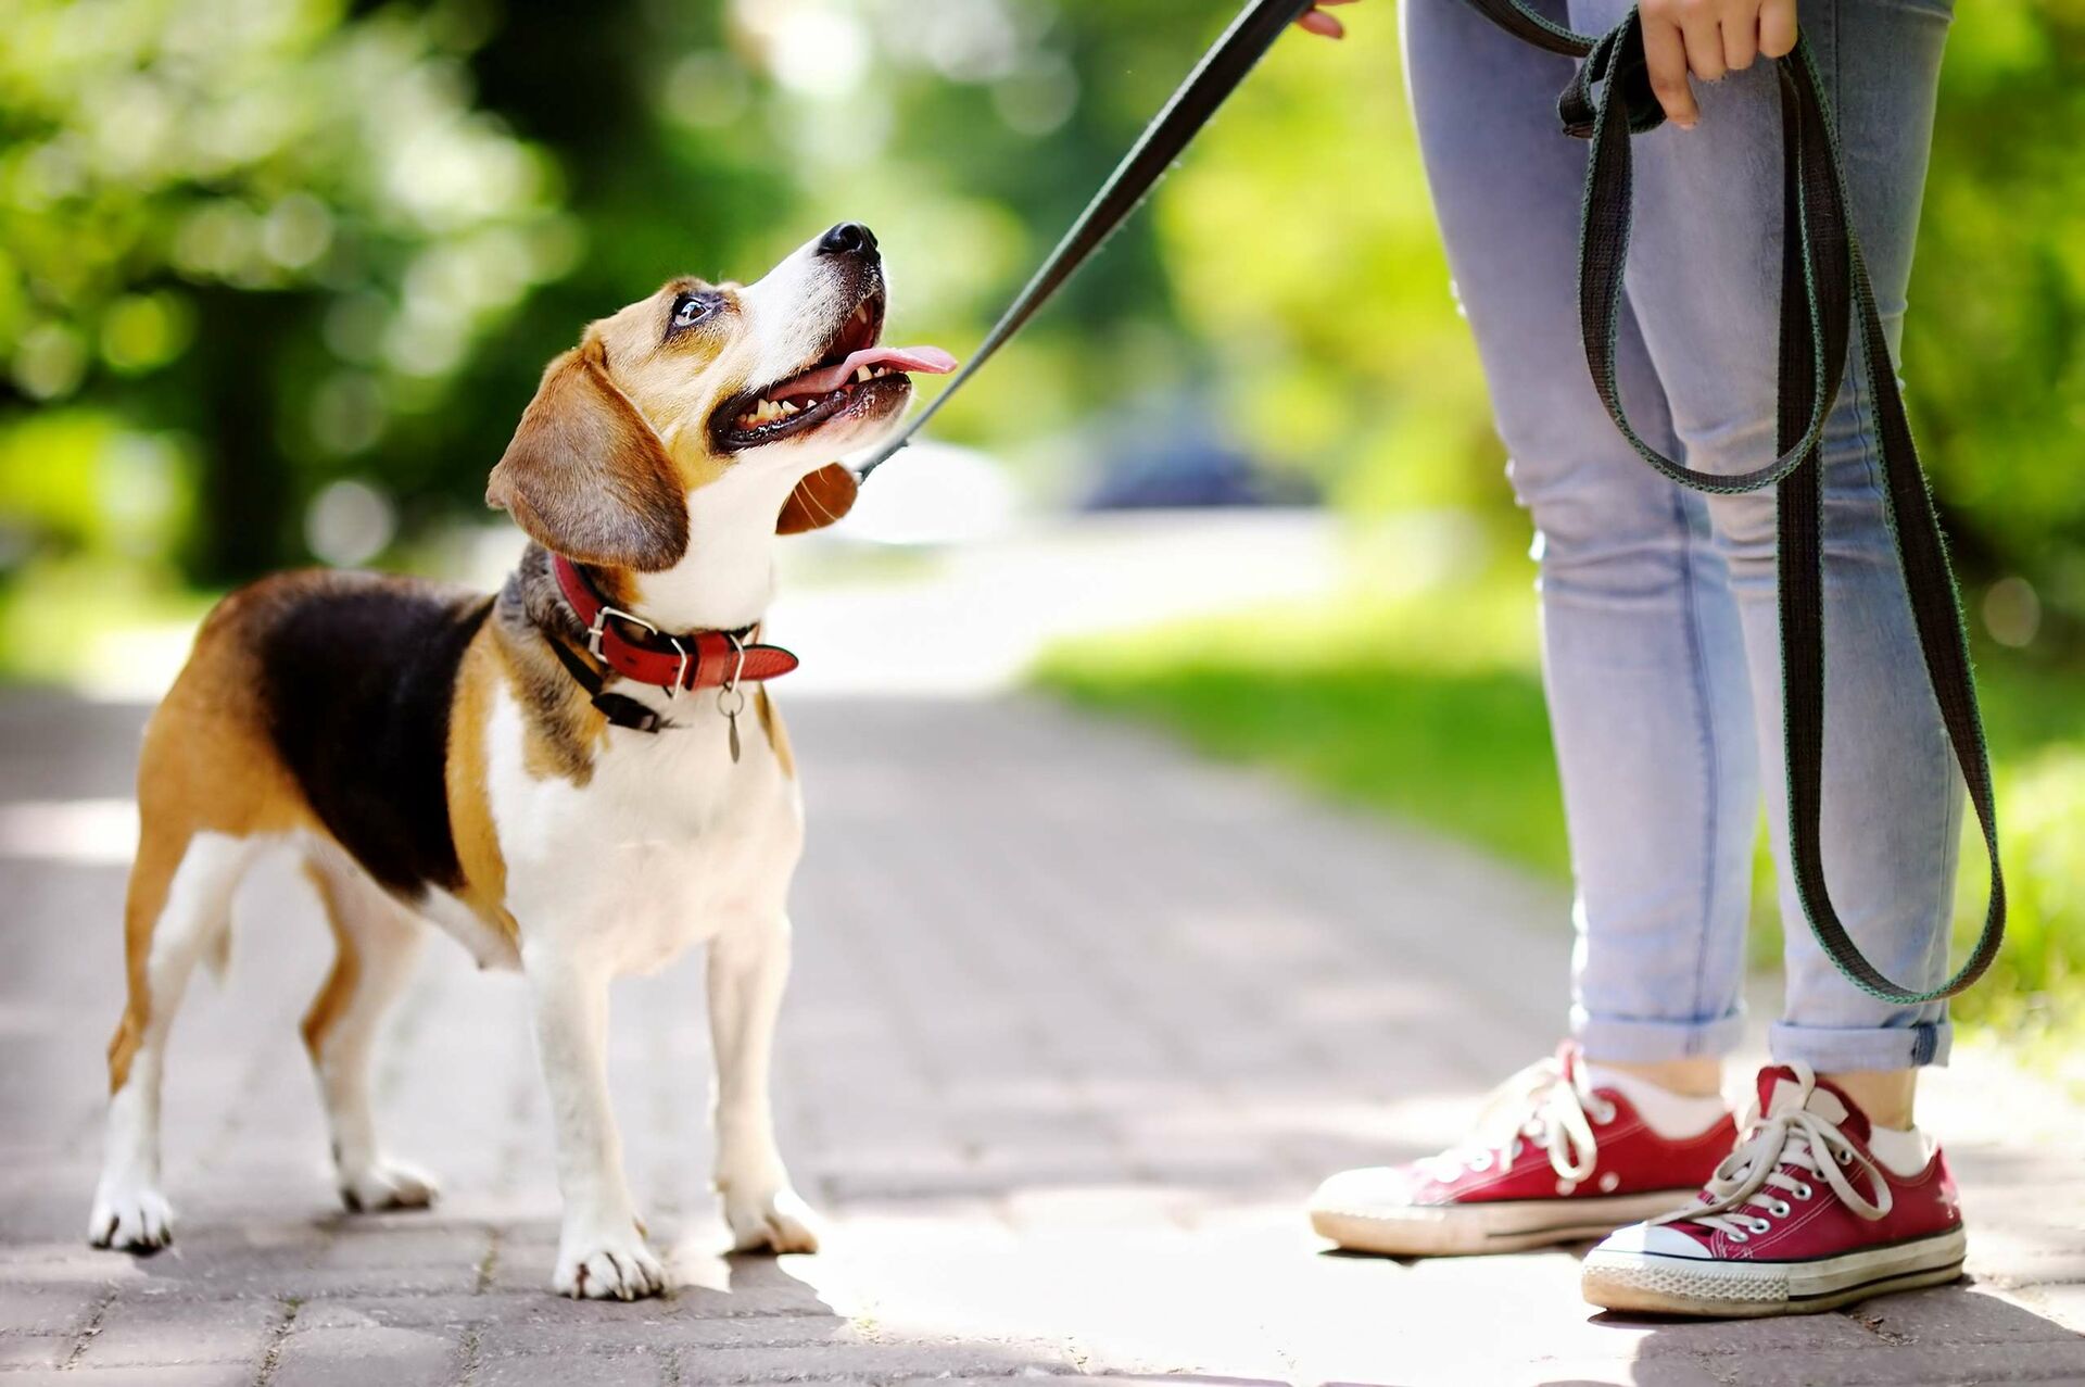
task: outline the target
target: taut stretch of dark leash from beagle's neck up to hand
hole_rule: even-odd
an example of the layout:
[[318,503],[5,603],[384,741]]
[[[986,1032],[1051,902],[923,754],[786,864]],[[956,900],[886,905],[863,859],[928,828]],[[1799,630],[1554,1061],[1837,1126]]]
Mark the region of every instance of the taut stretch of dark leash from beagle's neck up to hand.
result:
[[1078,215],[1078,221],[1063,234],[1057,248],[1049,252],[1042,269],[1028,279],[1028,286],[1015,294],[1007,311],[992,323],[992,330],[984,334],[984,342],[970,355],[963,369],[949,378],[949,386],[934,396],[934,403],[913,415],[890,442],[861,463],[857,473],[861,480],[867,480],[872,471],[909,444],[926,428],[928,419],[940,413],[949,396],[961,390],[963,382],[976,375],[1007,344],[1007,338],[1020,332],[1034,317],[1034,311],[1049,302],[1051,294],[1063,288],[1063,282],[1151,196],[1151,190],[1166,177],[1172,161],[1201,133],[1201,127],[1209,123],[1218,106],[1224,104],[1238,83],[1245,81],[1245,75],[1266,56],[1282,29],[1301,19],[1309,6],[1311,0],[1251,0],[1238,10],[1238,17],[1230,21],[1222,38],[1201,56],[1195,71],[1186,75],[1186,81],[1174,90],[1166,106],[1136,136],[1136,144],[1130,146],[1130,152],[1122,156],[1115,171],[1101,184],[1101,192],[1093,194],[1086,211]]

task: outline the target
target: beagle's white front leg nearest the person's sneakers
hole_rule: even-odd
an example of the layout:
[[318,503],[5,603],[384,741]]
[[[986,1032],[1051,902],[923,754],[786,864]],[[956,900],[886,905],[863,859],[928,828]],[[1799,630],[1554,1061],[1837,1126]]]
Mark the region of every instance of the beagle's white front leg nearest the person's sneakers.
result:
[[817,1220],[790,1189],[767,1072],[788,982],[788,916],[746,920],[709,945],[709,1035],[717,1055],[717,1193],[740,1251],[817,1251]]

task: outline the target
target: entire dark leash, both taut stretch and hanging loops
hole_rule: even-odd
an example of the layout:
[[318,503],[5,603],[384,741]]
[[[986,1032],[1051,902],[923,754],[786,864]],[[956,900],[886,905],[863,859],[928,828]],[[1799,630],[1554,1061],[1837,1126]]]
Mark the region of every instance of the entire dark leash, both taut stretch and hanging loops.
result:
[[[1904,396],[1874,307],[1874,288],[1847,217],[1845,171],[1833,117],[1818,83],[1810,46],[1774,60],[1783,125],[1783,261],[1776,457],[1737,476],[1695,471],[1643,442],[1622,409],[1616,340],[1622,317],[1622,267],[1628,259],[1628,138],[1664,123],[1643,63],[1637,10],[1612,31],[1591,38],[1551,23],[1522,0],[1466,0],[1501,29],[1537,48],[1580,58],[1557,98],[1564,131],[1591,142],[1585,206],[1578,223],[1578,323],[1587,367],[1608,415],[1645,463],[1681,486],[1733,494],[1776,488],[1776,565],[1781,603],[1783,734],[1789,776],[1789,838],[1795,889],[1810,930],[1826,957],[1870,997],[1920,1005],[1954,997],[1985,974],[2006,934],[2006,878],[1997,855],[1997,805],[1991,763],[1970,678],[1962,601],[1947,565],[1939,513],[1918,465],[1904,415]],[[861,467],[867,478],[911,442],[955,390],[1090,257],[1107,234],[1157,186],[1172,161],[1207,125],[1224,98],[1309,8],[1309,0],[1251,0],[1166,108],[1086,204],[1072,229],[986,334],[970,363],[930,407],[919,411]],[[1991,857],[1991,899],[1983,932],[1962,968],[1941,987],[1914,991],[1883,976],[1847,934],[1824,884],[1820,811],[1824,799],[1824,494],[1818,440],[1845,373],[1847,340],[1858,319],[1868,396],[1881,434],[1889,528],[1918,628],[1927,684],[1941,711],[1947,743],[1968,784],[1983,843]],[[1945,928],[1945,922],[1935,922]]]

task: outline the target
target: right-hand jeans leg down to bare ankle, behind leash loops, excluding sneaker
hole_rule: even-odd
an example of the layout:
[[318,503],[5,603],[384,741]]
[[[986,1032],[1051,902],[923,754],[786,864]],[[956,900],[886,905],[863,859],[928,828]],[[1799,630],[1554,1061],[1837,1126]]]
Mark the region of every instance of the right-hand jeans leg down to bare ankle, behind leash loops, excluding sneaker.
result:
[[[1624,0],[1572,0],[1578,27]],[[1933,127],[1945,0],[1806,0],[1845,150],[1851,215],[1895,344]],[[1685,461],[1741,471],[1772,457],[1781,273],[1781,119],[1768,63],[1695,83],[1701,123],[1637,140],[1628,294]],[[1943,976],[1960,774],[1927,690],[1879,484],[1864,365],[1847,363],[1824,436],[1824,874],[1847,930],[1916,987]],[[1710,498],[1745,628],[1766,805],[1781,866],[1789,993],[1774,1057],[1858,1091],[1889,1126],[1910,1122],[1908,1070],[1947,1055],[1939,1003],[1897,1007],[1841,978],[1804,920],[1787,870],[1774,496]]]

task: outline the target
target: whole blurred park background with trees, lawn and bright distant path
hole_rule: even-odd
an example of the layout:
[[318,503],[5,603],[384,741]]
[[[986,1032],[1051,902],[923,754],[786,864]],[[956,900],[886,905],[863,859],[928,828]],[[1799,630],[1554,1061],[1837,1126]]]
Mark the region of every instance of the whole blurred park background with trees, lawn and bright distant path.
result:
[[[861,219],[894,340],[963,355],[1232,8],[13,0],[0,676],[150,699],[284,565],[492,582],[484,478],[542,363],[673,273]],[[778,622],[811,692],[1034,684],[1564,876],[1526,521],[1395,8],[1345,15],[792,546]],[[2085,991],[2079,129],[2085,2],[1962,6],[1906,378],[2014,872],[1968,1014],[2016,1035]]]

